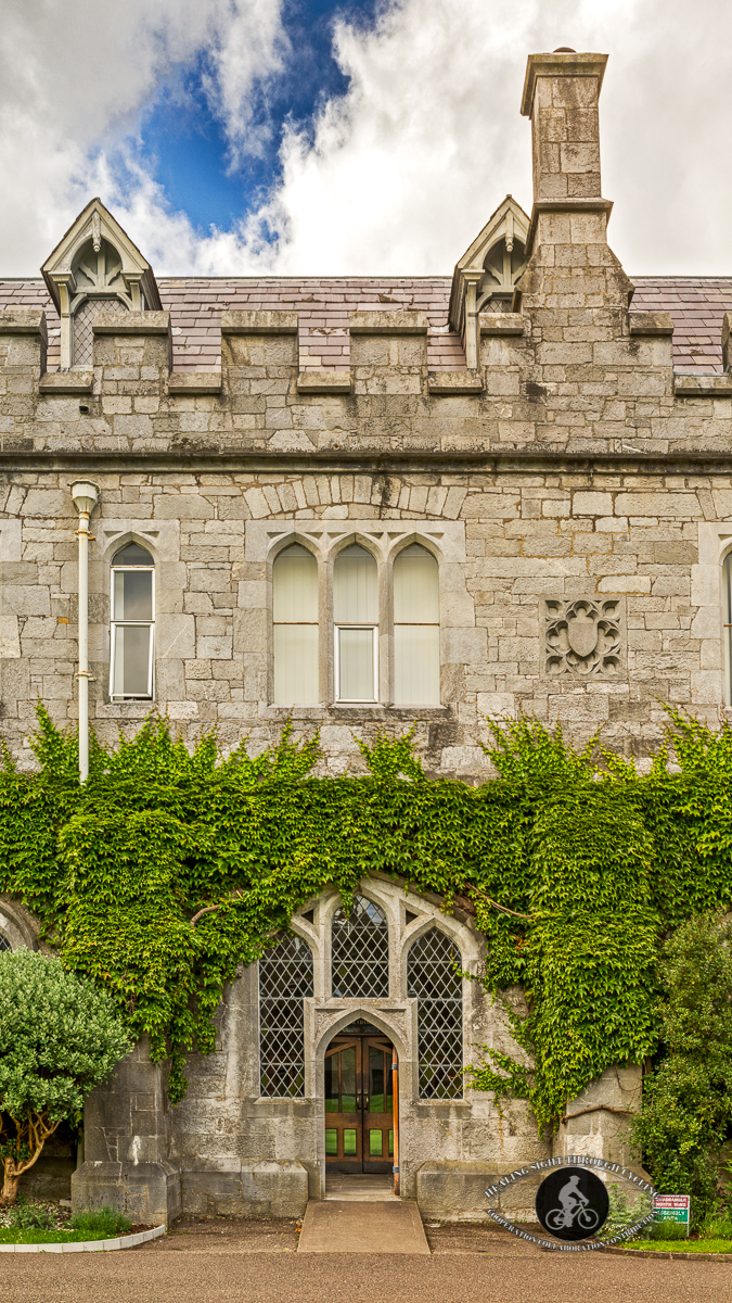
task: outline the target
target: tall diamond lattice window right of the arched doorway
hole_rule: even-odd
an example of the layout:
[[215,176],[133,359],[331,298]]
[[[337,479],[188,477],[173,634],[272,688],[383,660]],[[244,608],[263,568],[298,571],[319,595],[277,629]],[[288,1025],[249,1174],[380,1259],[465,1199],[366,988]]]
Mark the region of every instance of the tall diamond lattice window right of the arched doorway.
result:
[[406,992],[417,997],[419,1098],[462,1097],[462,977],[457,946],[434,928],[412,946]]

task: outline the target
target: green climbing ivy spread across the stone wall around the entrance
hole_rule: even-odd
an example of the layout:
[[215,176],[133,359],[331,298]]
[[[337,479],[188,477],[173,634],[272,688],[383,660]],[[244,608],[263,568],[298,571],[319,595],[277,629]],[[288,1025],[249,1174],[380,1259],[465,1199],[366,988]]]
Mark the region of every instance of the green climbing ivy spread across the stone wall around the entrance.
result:
[[597,739],[576,752],[541,723],[495,724],[496,777],[474,787],[427,778],[413,732],[359,743],[363,774],[332,778],[314,775],[317,736],[224,757],[151,715],[115,748],[92,739],[79,787],[76,736],[39,708],[38,770],[5,754],[0,771],[0,890],[169,1057],[173,1101],[186,1052],[214,1049],[224,982],[307,899],[333,886],[348,907],[374,872],[438,893],[475,915],[479,980],[518,1046],[485,1049],[469,1079],[551,1130],[656,1049],[664,936],[729,907],[732,731],[669,715],[645,775]]

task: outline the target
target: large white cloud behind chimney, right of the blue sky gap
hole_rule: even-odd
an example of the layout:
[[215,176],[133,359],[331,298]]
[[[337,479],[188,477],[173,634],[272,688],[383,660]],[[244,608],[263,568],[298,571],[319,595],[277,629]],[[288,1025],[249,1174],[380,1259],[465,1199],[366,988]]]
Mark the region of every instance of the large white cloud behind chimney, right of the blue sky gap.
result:
[[288,272],[445,272],[511,192],[530,208],[526,56],[610,53],[600,99],[611,244],[638,272],[731,272],[727,0],[402,0],[341,23],[350,77],[314,143],[290,133],[262,214]]

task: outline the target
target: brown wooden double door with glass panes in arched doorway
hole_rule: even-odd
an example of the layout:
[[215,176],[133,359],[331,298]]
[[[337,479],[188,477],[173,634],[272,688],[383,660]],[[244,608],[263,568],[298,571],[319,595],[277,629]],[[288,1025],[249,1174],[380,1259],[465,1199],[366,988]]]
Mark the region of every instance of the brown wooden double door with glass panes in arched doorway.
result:
[[388,1171],[393,1166],[393,1046],[361,1023],[326,1050],[326,1170]]

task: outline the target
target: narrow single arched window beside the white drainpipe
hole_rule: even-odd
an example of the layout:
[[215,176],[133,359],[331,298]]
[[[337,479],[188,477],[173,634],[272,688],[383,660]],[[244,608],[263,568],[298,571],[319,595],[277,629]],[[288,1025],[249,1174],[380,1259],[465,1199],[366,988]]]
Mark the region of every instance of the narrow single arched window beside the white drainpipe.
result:
[[155,562],[128,543],[112,562],[109,694],[150,701],[154,689]]

